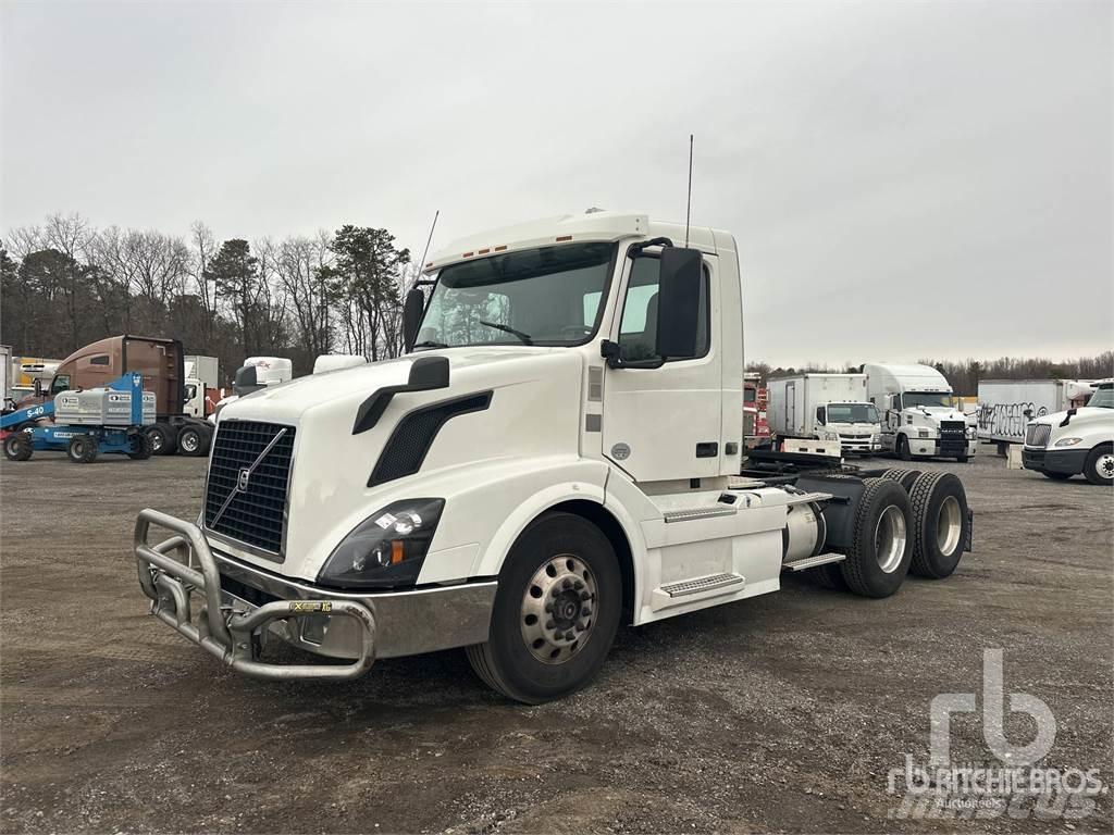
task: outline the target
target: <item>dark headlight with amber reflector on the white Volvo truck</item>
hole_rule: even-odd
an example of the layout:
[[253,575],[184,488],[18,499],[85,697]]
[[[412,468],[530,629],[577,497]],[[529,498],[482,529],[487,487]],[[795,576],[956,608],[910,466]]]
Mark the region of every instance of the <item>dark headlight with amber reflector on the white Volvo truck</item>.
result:
[[317,582],[342,589],[412,586],[441,519],[444,499],[388,504],[341,540]]

